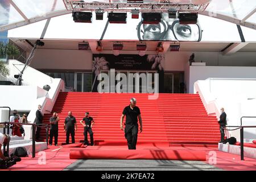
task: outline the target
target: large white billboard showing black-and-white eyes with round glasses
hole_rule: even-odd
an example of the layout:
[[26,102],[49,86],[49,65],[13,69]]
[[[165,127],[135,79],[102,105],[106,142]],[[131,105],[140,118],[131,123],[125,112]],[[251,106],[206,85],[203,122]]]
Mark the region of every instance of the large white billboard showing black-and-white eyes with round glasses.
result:
[[[43,20],[15,28],[9,31],[9,37],[38,39],[45,24],[46,20]],[[243,33],[246,35],[246,31]],[[236,24],[210,16],[199,15],[196,24],[180,24],[179,19],[162,13],[159,23],[143,24],[141,13],[138,19],[127,13],[126,23],[109,23],[107,12],[103,20],[96,20],[92,13],[92,23],[76,23],[72,14],[51,18],[44,39],[241,42]]]

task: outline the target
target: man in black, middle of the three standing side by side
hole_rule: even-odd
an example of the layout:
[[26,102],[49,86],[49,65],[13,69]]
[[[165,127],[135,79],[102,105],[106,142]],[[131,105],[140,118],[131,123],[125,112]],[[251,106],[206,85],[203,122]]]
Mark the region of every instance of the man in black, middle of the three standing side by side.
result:
[[75,143],[75,131],[77,130],[76,118],[73,117],[72,111],[68,112],[68,117],[64,122],[64,131],[66,132],[66,144],[69,144],[69,135],[71,135],[72,143]]

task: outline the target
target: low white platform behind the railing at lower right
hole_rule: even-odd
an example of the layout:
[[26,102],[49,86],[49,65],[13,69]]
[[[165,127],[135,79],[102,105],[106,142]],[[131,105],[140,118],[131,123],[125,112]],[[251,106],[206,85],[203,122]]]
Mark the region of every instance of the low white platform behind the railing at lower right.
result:
[[[233,144],[218,143],[218,150],[222,151],[222,152],[228,152],[230,154],[236,154],[236,155],[241,154],[241,152],[240,152],[241,147],[233,145]],[[256,148],[243,147],[243,156],[245,156],[247,158],[256,159]]]

